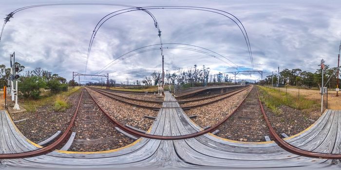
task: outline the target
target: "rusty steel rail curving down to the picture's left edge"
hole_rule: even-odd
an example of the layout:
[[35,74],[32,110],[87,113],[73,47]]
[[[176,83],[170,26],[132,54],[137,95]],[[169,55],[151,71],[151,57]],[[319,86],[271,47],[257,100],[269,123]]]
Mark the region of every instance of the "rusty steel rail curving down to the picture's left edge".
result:
[[78,108],[80,105],[80,101],[82,100],[83,92],[80,95],[79,102],[75,111],[75,114],[73,118],[71,119],[71,122],[68,126],[68,128],[65,130],[62,136],[60,136],[55,142],[53,142],[51,145],[34,150],[34,151],[28,151],[23,153],[3,153],[0,154],[0,159],[17,159],[17,158],[27,158],[27,157],[34,157],[39,156],[42,154],[50,153],[56,150],[64,141],[66,141],[69,136],[71,135],[71,128],[74,126],[75,119],[77,116]]

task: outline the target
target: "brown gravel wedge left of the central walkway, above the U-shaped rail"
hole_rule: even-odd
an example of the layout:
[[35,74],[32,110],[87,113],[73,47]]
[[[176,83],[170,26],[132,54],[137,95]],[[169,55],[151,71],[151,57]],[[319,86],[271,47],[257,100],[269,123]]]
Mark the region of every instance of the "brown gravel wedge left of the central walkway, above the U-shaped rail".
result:
[[125,102],[114,100],[104,96],[94,90],[89,89],[91,95],[100,104],[100,106],[108,111],[113,119],[118,120],[122,124],[129,124],[136,128],[147,131],[152,125],[153,120],[145,119],[143,116],[156,116],[157,111],[151,109],[132,106]]

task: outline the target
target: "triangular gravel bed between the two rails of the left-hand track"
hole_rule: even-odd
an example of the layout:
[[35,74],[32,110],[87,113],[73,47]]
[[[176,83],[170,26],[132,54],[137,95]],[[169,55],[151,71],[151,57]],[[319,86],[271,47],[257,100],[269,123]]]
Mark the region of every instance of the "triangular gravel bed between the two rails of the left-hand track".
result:
[[133,142],[114,129],[114,124],[96,105],[87,90],[78,109],[75,125],[75,140],[70,151],[105,151],[120,148]]

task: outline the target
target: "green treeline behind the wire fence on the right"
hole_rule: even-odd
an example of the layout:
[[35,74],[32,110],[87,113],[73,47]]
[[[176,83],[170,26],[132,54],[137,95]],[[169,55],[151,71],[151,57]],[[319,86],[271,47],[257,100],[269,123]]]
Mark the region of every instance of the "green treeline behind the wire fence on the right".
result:
[[[321,63],[324,65],[323,69],[323,82],[324,85],[327,83],[328,79],[329,82],[326,86],[329,88],[335,88],[336,82],[337,82],[337,76],[336,71],[338,68],[330,68],[329,65],[325,65],[325,61],[322,59]],[[289,70],[287,68],[283,69],[279,73],[279,84],[280,85],[297,85],[297,86],[319,86],[321,87],[322,84],[322,68],[321,64],[318,65],[318,69],[314,73],[309,71],[302,71],[300,68],[295,68],[292,70]],[[266,85],[272,85],[272,79],[273,84],[278,84],[278,77],[277,74],[274,73],[273,76],[269,75],[266,76],[265,80],[263,80],[263,84]],[[340,80],[340,79],[339,79]]]

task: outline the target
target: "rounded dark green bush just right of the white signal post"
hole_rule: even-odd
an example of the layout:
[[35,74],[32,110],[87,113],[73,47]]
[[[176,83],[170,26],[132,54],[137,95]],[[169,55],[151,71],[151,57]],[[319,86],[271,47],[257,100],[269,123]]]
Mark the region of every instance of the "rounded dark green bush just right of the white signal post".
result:
[[38,76],[26,77],[22,82],[19,82],[19,92],[25,98],[38,99],[40,96],[40,88],[46,86],[43,79]]

